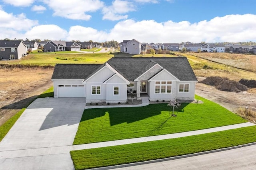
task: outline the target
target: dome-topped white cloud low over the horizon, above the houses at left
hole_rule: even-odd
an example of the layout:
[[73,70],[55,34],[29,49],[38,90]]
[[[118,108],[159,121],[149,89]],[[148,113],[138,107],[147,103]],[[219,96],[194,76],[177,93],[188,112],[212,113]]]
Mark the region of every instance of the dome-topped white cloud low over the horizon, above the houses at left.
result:
[[68,32],[58,25],[38,25],[25,33],[28,39],[66,40]]

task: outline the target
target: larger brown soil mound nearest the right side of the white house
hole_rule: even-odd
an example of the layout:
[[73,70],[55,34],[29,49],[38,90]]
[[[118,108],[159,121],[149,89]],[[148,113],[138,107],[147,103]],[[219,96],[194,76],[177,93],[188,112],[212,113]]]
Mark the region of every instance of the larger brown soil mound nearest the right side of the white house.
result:
[[207,77],[206,79],[200,81],[199,83],[215,86],[218,90],[228,91],[228,92],[242,92],[242,91],[248,90],[248,88],[245,85],[239,82],[229,80],[228,78],[218,77],[218,76]]

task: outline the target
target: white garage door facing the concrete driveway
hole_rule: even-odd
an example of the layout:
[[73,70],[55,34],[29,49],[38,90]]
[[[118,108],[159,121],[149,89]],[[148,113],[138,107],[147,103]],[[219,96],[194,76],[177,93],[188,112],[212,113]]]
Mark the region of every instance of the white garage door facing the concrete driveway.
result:
[[78,98],[85,97],[84,84],[58,85],[59,98]]

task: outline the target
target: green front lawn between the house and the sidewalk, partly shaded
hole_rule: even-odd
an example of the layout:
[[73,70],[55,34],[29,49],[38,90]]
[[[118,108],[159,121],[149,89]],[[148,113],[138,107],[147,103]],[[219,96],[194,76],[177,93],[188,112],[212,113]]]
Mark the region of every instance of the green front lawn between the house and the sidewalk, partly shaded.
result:
[[171,107],[167,104],[86,109],[73,145],[180,133],[247,122],[214,102],[199,96],[196,99],[202,100],[204,104],[183,103],[178,113],[176,112],[177,117],[170,117]]

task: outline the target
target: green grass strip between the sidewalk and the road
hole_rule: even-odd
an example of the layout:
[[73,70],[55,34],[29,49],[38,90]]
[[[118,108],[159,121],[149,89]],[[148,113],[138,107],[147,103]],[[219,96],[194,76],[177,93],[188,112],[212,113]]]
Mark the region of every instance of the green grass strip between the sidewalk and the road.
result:
[[256,126],[176,139],[71,151],[76,170],[128,164],[256,142]]

